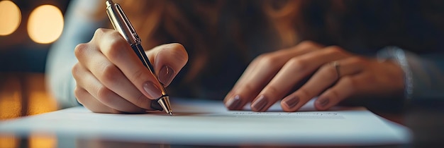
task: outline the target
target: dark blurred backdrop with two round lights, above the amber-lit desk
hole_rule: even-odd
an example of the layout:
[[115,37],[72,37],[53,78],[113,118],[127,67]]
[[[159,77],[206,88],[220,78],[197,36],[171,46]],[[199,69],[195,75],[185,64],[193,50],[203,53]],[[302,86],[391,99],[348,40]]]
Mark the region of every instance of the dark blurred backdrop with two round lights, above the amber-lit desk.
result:
[[0,72],[44,73],[68,0],[0,1]]

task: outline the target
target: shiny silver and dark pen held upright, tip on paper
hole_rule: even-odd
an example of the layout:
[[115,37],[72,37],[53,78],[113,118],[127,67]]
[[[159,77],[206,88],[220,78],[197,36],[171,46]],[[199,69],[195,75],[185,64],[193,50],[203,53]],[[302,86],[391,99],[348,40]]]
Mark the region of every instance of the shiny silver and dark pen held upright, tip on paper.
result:
[[[162,82],[160,82],[157,78],[157,75],[155,74],[150,60],[148,59],[145,51],[140,45],[140,38],[137,33],[135,33],[134,27],[133,25],[131,25],[125,13],[123,13],[121,6],[119,4],[114,4],[111,0],[107,0],[106,13],[108,13],[109,20],[111,20],[111,24],[113,25],[114,30],[117,30],[122,35],[122,37],[125,38],[126,41],[128,41],[135,54],[137,54],[137,56],[140,58],[140,61],[142,61],[143,65],[147,67],[150,70],[150,73],[157,79],[157,85],[160,85],[162,96],[158,98],[157,101],[152,101],[151,107],[160,111],[165,110],[165,112],[169,113],[170,116],[172,116],[170,97],[165,91],[165,87],[163,86]],[[162,108],[159,108],[159,105]]]

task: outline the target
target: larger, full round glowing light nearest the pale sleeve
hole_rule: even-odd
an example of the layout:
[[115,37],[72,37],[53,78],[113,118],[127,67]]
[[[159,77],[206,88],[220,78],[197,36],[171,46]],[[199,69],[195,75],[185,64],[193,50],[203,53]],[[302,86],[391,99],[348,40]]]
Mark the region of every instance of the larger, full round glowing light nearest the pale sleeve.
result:
[[34,42],[48,44],[60,37],[63,30],[63,15],[59,8],[43,5],[30,13],[28,35]]

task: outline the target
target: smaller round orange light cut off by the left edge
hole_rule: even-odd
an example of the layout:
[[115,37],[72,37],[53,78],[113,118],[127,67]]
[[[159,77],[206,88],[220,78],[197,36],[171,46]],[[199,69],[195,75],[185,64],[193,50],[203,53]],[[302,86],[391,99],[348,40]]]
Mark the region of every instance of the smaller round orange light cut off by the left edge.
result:
[[21,22],[20,8],[12,1],[0,1],[0,35],[11,35]]

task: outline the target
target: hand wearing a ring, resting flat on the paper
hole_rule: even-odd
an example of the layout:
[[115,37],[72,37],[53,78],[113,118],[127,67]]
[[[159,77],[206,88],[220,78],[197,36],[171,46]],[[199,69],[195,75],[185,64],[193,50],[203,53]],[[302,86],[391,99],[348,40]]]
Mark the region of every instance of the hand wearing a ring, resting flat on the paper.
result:
[[282,100],[284,111],[297,111],[318,97],[316,109],[326,110],[350,97],[402,94],[403,75],[394,61],[377,61],[306,41],[255,58],[224,102],[231,110],[251,102],[252,111],[267,111]]

